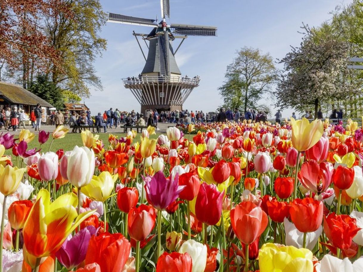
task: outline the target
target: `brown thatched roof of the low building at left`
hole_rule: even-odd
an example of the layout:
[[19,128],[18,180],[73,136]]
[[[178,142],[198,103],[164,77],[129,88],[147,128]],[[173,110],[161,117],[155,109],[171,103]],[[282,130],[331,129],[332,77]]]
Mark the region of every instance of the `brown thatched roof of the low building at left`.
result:
[[0,81],[0,95],[4,96],[13,104],[36,105],[43,107],[53,107],[51,104],[41,99],[39,96],[25,90],[19,85]]

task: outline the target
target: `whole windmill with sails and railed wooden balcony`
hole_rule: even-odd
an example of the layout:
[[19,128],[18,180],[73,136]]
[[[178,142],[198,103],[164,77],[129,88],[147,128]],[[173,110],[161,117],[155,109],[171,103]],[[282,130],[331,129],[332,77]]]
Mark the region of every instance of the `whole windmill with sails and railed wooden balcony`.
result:
[[[152,27],[149,34],[133,32],[146,61],[142,72],[137,77],[123,78],[125,88],[141,104],[141,112],[147,110],[182,110],[183,103],[192,90],[199,86],[200,78],[182,77],[175,61],[175,54],[188,36],[216,36],[217,28],[214,26],[198,26],[170,24],[169,0],[160,0],[162,21],[109,13],[108,22],[131,24]],[[146,43],[147,57],[142,50],[138,37]],[[178,48],[174,51],[172,42],[181,39]],[[148,41],[148,43],[147,43]]]

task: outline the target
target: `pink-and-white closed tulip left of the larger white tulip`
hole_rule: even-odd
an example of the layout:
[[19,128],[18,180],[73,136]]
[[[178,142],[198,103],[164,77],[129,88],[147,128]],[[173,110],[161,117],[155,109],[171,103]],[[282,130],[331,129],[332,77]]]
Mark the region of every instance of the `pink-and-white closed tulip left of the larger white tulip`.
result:
[[42,154],[38,161],[38,171],[41,180],[51,181],[58,176],[58,156],[54,152]]

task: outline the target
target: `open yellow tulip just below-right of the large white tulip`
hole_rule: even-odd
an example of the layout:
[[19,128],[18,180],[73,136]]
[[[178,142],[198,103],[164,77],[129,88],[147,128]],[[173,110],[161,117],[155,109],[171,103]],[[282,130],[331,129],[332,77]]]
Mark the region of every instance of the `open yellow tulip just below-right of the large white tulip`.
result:
[[117,175],[104,171],[99,176],[93,176],[91,182],[82,187],[81,192],[93,200],[105,202],[110,197],[116,180]]

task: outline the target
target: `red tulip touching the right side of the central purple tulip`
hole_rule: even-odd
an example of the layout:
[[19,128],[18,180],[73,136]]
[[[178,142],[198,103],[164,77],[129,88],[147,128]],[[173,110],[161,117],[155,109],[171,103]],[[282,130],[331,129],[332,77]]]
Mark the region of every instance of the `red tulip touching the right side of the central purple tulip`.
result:
[[198,194],[200,187],[200,179],[197,169],[181,174],[178,182],[180,186],[185,185],[185,188],[179,194],[179,198],[192,201]]

